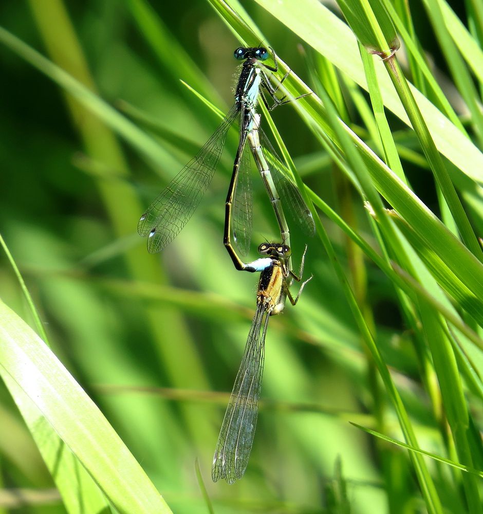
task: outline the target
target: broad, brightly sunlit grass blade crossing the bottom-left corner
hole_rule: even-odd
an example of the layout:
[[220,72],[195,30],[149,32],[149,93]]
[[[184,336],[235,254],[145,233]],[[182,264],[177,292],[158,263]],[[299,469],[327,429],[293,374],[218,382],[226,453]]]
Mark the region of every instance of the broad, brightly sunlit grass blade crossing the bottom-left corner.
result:
[[0,303],[0,365],[125,514],[171,512],[94,402],[45,343]]

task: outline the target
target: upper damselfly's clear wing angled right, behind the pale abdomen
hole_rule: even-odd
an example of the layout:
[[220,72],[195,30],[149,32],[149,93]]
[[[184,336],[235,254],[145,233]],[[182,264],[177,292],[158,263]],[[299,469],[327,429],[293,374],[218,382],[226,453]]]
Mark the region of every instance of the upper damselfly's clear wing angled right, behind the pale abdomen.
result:
[[284,212],[288,211],[289,216],[302,228],[306,235],[314,235],[315,224],[313,222],[312,213],[302,198],[299,188],[283,173],[282,170],[287,170],[287,167],[277,156],[267,136],[260,128],[258,132],[260,133],[262,142],[262,151],[269,164],[270,173],[278,195],[280,196]]

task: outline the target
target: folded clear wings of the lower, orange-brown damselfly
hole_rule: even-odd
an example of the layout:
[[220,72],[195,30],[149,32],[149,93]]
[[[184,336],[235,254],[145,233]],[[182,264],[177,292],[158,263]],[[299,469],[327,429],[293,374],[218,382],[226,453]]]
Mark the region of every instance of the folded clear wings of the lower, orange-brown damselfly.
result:
[[266,306],[258,304],[213,455],[214,482],[225,479],[233,484],[247,468],[258,415],[269,318]]

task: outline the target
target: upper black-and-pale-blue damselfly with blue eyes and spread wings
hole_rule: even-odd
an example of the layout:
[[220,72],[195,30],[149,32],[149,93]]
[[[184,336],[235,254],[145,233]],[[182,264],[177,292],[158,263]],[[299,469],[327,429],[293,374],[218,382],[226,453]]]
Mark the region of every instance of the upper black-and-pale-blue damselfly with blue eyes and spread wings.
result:
[[[248,186],[249,182],[245,178],[249,176],[250,154],[244,153],[245,143],[249,134],[256,134],[259,130],[259,119],[255,123],[255,107],[259,96],[262,97],[269,109],[288,102],[285,97],[277,98],[275,96],[277,88],[271,84],[267,71],[276,72],[278,65],[275,53],[273,53],[274,66],[264,64],[263,61],[266,61],[268,57],[269,53],[263,47],[240,47],[235,50],[235,58],[244,61],[236,86],[235,104],[205,146],[173,178],[139,220],[138,232],[143,237],[148,236],[147,249],[150,253],[156,253],[168,245],[198,207],[219,162],[227,133],[236,119],[239,119],[239,141],[227,197],[226,227],[228,227],[229,238],[230,226],[233,223],[236,247],[242,255],[248,252],[251,238],[251,191]],[[285,74],[280,83],[286,79],[289,72]],[[272,98],[272,105],[268,105],[263,91]],[[254,155],[261,154],[259,145],[257,150],[252,145],[252,151]],[[313,233],[313,219],[300,196],[299,190],[280,171],[283,166],[278,162],[274,152],[271,154],[271,160],[270,158],[268,160],[271,168],[266,166],[265,171],[270,171],[270,169],[278,171],[280,190],[290,191],[287,198],[282,198],[282,201],[287,201],[287,207],[295,219],[307,221],[307,225],[310,225],[309,230]],[[259,169],[262,171],[262,168]],[[273,171],[273,173],[276,173],[276,171]],[[267,190],[272,204],[277,207],[276,204],[280,203],[280,198],[278,198],[275,186],[267,188]],[[233,222],[231,220],[232,212]],[[275,209],[281,232],[285,233],[287,224],[285,218],[281,221],[278,214],[280,212],[281,209]],[[234,251],[230,251],[231,241],[227,242],[227,228],[225,229],[225,244],[235,266],[239,268],[241,261],[236,258]]]

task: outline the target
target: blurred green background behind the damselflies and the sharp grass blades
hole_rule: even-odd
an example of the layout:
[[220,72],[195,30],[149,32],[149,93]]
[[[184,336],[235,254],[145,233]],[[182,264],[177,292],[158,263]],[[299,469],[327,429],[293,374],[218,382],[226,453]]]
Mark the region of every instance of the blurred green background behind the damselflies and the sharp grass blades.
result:
[[[238,42],[204,0],[153,2],[155,28],[143,19],[140,4],[32,0],[0,5],[6,29],[151,134],[162,159],[162,166],[154,166],[0,46],[0,232],[24,274],[53,351],[174,512],[207,511],[196,458],[216,512],[348,512],[346,503],[354,513],[386,512],[388,476],[398,477],[392,491],[400,493],[393,496],[391,511],[419,511],[407,455],[389,447],[381,451],[348,424],[375,426],[377,379],[332,267],[320,245],[310,241],[305,269],[314,279],[296,308],[288,306],[270,321],[264,401],[246,475],[233,486],[211,482],[212,454],[257,282],[256,276],[234,270],[222,245],[236,134],[230,134],[192,220],[162,254],[147,253],[136,225],[218,123],[180,80],[226,112],[233,101]],[[310,84],[296,36],[255,3],[243,6],[277,54]],[[413,16],[418,19],[414,11]],[[424,26],[423,14],[419,20]],[[441,64],[427,28],[421,39]],[[361,123],[350,102],[348,109],[352,120]],[[273,118],[304,181],[374,243],[360,199],[294,109],[277,109]],[[392,122],[395,131],[402,129],[400,122]],[[408,135],[405,143],[414,147],[414,138]],[[430,174],[414,163],[404,166],[416,193],[437,211]],[[273,213],[257,177],[254,190],[250,260],[259,243],[276,238]],[[394,289],[378,268],[362,263],[331,222],[323,222],[349,274],[351,266],[359,266],[351,275],[362,281],[356,285],[359,300],[374,316],[380,350],[421,427],[419,440],[431,448],[435,421],[421,399],[411,334],[401,321]],[[298,263],[305,240],[298,233],[293,240]],[[30,320],[3,255],[0,263],[2,299]],[[53,482],[40,454],[3,387],[0,395],[0,482],[5,488],[48,494]],[[391,411],[386,424],[388,433],[401,438]],[[339,457],[343,480],[337,479]],[[388,473],[388,465],[397,471]],[[36,501],[42,503],[42,494]],[[59,500],[20,511],[64,509]]]

